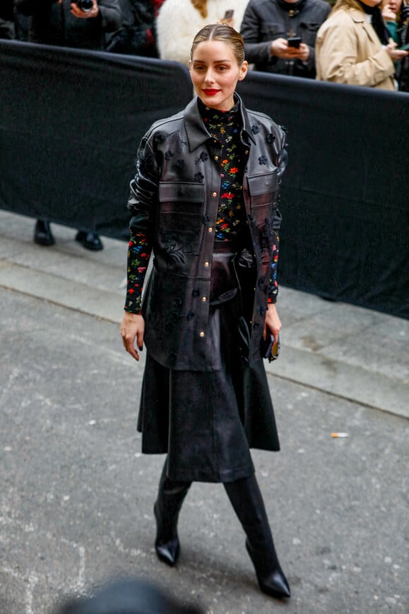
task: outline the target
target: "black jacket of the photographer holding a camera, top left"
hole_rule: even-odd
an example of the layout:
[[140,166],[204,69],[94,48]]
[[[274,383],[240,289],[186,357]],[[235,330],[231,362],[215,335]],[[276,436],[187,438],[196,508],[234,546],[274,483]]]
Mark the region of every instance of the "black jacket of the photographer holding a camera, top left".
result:
[[60,47],[104,49],[104,32],[118,30],[122,23],[119,0],[98,0],[99,15],[81,19],[71,13],[71,2],[63,0],[15,0],[16,10],[31,17],[31,42]]

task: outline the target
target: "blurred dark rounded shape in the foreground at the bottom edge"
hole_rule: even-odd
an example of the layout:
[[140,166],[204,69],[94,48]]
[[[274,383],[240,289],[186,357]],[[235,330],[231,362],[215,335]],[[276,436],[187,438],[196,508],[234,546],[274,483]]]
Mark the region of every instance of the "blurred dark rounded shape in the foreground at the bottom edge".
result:
[[109,582],[91,597],[68,598],[54,614],[202,614],[138,579]]

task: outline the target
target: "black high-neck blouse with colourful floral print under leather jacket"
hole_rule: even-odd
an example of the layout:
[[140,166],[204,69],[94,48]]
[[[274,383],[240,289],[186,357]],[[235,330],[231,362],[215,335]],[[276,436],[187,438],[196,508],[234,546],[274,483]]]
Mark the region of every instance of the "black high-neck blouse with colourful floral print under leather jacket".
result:
[[[198,100],[200,114],[209,134],[221,143],[223,155],[220,173],[220,200],[216,218],[216,241],[238,239],[245,229],[246,215],[243,200],[243,174],[247,163],[245,146],[240,139],[241,120],[238,104],[230,111],[209,109]],[[199,159],[198,162],[203,161]],[[279,260],[279,237],[273,246],[268,302],[275,303],[278,294],[276,281]],[[143,233],[131,234],[128,246],[128,276],[125,310],[140,313],[142,286],[152,246]]]

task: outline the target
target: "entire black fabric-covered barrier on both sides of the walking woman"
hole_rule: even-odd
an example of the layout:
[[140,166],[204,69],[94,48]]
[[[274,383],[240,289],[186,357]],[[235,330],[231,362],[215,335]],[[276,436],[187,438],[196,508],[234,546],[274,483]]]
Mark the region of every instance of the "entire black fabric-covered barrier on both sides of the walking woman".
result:
[[[185,107],[181,64],[0,41],[0,207],[128,238],[141,136]],[[288,129],[279,282],[409,317],[409,96],[249,73]]]

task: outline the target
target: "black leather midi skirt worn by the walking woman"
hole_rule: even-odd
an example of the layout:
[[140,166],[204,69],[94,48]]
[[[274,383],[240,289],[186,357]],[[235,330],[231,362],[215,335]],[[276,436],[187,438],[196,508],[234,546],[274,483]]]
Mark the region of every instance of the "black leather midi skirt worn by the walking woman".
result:
[[232,256],[218,253],[212,263],[207,339],[220,368],[178,371],[147,352],[138,418],[142,452],[167,453],[173,480],[235,481],[254,473],[250,447],[279,450],[261,350],[260,361],[246,358],[243,279]]

